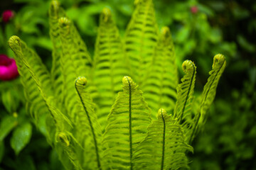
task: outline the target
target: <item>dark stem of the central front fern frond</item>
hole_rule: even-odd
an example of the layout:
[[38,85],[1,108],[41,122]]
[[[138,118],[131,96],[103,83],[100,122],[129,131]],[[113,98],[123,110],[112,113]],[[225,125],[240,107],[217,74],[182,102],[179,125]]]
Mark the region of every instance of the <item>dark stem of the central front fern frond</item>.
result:
[[130,147],[130,165],[132,170],[132,89],[131,89],[131,83],[127,78],[128,84],[129,84],[129,147]]

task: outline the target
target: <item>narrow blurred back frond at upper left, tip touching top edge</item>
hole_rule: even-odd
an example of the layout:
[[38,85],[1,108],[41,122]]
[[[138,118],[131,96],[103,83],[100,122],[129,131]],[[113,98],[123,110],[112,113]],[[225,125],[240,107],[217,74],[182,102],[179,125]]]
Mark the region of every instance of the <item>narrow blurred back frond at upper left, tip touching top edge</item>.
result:
[[53,62],[50,71],[51,81],[53,82],[54,96],[58,98],[60,103],[63,103],[61,94],[63,93],[63,75],[61,74],[60,55],[61,42],[58,19],[65,16],[65,11],[60,7],[58,1],[51,1],[49,8],[49,23],[50,23],[50,40],[53,42]]

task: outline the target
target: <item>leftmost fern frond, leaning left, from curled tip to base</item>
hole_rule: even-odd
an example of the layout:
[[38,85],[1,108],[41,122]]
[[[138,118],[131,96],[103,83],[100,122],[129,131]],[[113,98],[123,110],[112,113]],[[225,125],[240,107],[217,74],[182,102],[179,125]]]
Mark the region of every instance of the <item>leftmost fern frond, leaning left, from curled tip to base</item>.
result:
[[[46,123],[46,116],[48,116],[49,118],[49,115],[47,115],[47,113],[50,113],[51,117],[50,119],[48,119],[48,123],[51,122],[50,128],[46,127],[46,124],[44,124],[44,128],[48,130],[46,135],[48,142],[51,145],[55,145],[60,160],[62,162],[63,159],[67,161],[66,158],[69,158],[68,162],[63,162],[64,166],[69,168],[80,167],[75,151],[74,149],[72,149],[72,147],[75,148],[75,142],[73,142],[73,145],[67,145],[67,142],[65,143],[65,145],[58,145],[58,141],[55,142],[53,140],[55,138],[54,135],[58,135],[60,134],[60,132],[69,134],[69,136],[72,137],[72,134],[70,134],[69,131],[71,128],[73,128],[73,126],[71,125],[68,118],[66,118],[65,115],[63,115],[63,113],[58,110],[58,108],[55,108],[55,103],[53,102],[52,97],[48,97],[50,94],[46,90],[46,83],[50,82],[50,77],[46,76],[47,73],[43,69],[44,67],[42,67],[41,65],[41,60],[38,60],[36,53],[26,47],[26,44],[21,41],[20,38],[18,38],[17,36],[12,36],[10,38],[9,45],[11,49],[14,50],[18,63],[23,63],[21,68],[19,68],[19,70],[21,70],[21,77],[26,78],[29,74],[30,79],[27,79],[28,81],[26,83],[29,83],[30,86],[35,86],[35,89],[33,90],[36,91],[36,94],[38,95],[37,97],[41,97],[39,99],[34,98],[33,104],[35,105],[35,109],[38,109],[35,111],[43,111],[42,115],[40,115],[40,118],[43,119],[43,123]],[[48,84],[48,88],[49,87],[50,84]],[[52,123],[54,125],[52,125]]]

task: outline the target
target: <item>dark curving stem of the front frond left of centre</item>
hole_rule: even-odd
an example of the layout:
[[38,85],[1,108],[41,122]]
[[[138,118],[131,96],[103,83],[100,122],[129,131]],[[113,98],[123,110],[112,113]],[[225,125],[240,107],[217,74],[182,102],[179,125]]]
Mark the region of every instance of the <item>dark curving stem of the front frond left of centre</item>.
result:
[[[76,81],[78,81],[78,80],[76,80]],[[75,81],[75,83],[76,83],[76,81]],[[77,86],[75,86],[75,89],[76,89],[76,91],[78,91]],[[90,120],[89,113],[87,111],[87,108],[85,107],[85,103],[82,101],[82,96],[80,95],[79,91],[78,91],[78,96],[80,98],[80,101],[82,102],[82,107],[84,108],[85,113],[86,113],[87,118],[88,118],[88,121],[90,123],[90,128],[91,128],[91,131],[92,131],[93,141],[94,141],[94,144],[95,144],[95,152],[96,152],[96,157],[97,157],[97,166],[100,170],[102,170],[101,165],[100,165],[99,149],[97,147],[97,139],[96,139],[96,136],[95,136],[95,130],[92,126],[92,120]]]

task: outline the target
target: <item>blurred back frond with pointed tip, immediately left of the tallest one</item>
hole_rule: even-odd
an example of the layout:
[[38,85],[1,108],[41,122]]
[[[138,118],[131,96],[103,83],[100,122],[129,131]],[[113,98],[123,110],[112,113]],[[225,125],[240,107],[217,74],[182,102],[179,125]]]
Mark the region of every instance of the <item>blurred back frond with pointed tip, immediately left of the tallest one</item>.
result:
[[93,83],[100,93],[98,118],[105,128],[114,98],[122,90],[120,80],[128,73],[119,31],[109,8],[104,8],[100,16],[94,60]]

